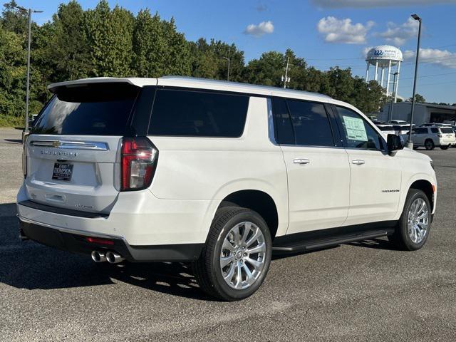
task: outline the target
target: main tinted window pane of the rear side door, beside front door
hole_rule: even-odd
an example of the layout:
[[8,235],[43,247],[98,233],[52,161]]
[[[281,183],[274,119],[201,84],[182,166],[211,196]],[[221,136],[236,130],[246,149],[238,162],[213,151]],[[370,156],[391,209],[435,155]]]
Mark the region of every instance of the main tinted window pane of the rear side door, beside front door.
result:
[[286,100],[296,145],[334,146],[328,115],[321,103]]

